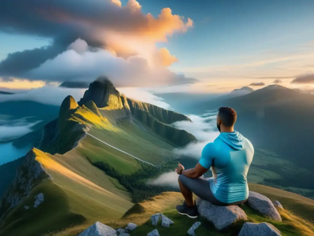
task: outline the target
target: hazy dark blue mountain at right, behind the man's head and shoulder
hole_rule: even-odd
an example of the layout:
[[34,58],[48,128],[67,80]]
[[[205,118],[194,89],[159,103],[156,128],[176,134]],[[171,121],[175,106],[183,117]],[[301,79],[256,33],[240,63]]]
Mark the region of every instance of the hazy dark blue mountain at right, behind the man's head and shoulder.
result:
[[[243,96],[215,103],[208,101],[207,104],[208,109],[220,106],[236,110],[236,129],[255,147],[273,151],[305,169],[314,165],[313,95],[269,85]],[[202,112],[198,110],[198,113]]]

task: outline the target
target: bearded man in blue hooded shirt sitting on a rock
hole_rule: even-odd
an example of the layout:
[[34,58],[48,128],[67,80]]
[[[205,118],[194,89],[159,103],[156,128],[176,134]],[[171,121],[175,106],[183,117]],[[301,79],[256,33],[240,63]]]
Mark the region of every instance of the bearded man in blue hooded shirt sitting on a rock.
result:
[[[181,215],[198,217],[196,202],[192,193],[199,198],[218,206],[240,205],[249,195],[246,175],[253,159],[251,142],[241,133],[234,131],[236,111],[221,107],[217,114],[219,136],[203,148],[198,164],[185,170],[179,163],[179,187],[185,199],[183,205],[176,207]],[[202,176],[211,168],[213,177]]]

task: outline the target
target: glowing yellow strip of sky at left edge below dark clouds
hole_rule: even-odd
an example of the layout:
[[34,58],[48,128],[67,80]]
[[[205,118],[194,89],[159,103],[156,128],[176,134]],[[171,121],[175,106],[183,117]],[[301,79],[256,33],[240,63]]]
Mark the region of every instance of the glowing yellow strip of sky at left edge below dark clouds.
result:
[[29,81],[26,79],[12,78],[12,80],[10,81],[2,81],[2,79],[0,79],[0,87],[11,88],[11,89],[40,88],[40,87],[45,86],[45,84],[46,83],[41,80]]

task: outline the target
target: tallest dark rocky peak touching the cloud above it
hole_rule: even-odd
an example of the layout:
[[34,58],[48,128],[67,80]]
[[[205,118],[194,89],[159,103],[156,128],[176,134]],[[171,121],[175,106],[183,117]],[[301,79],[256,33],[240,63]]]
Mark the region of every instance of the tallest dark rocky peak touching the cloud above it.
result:
[[119,91],[116,90],[112,82],[106,76],[100,76],[89,84],[88,90],[85,91],[78,104],[82,106],[89,101],[93,101],[99,108],[106,107],[109,105],[112,95],[120,97]]

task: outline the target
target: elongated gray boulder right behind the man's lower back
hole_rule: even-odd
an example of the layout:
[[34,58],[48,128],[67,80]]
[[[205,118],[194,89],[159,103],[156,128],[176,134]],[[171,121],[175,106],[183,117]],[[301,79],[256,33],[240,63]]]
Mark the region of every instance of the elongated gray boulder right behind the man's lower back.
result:
[[282,221],[279,212],[268,197],[265,197],[264,195],[256,192],[249,191],[247,202],[253,209],[259,211],[265,216],[269,216],[275,221]]

